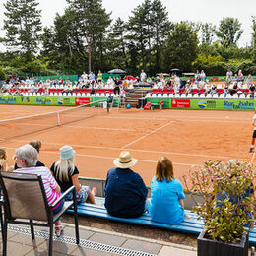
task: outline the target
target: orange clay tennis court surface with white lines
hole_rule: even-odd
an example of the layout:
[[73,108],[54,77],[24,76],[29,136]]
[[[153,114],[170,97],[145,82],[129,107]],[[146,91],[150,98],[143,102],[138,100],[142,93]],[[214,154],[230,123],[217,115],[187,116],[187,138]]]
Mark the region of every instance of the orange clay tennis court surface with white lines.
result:
[[[0,105],[0,120],[66,108]],[[77,116],[80,114],[78,112]],[[72,115],[76,115],[76,111]],[[71,145],[76,151],[80,176],[93,178],[105,178],[107,170],[113,167],[112,161],[122,150],[129,150],[138,159],[133,169],[150,185],[157,160],[163,155],[172,160],[176,178],[188,172],[191,165],[202,165],[208,159],[255,163],[255,154],[248,153],[253,132],[252,117],[252,111],[111,109],[108,114],[105,111],[7,140],[3,140],[4,134],[10,129],[0,123],[0,145],[8,149],[9,165],[12,165],[16,148],[32,139],[40,140],[39,160],[48,167],[59,160],[60,147]],[[29,119],[24,125],[14,125],[14,130],[26,130],[32,125],[46,127],[48,122]]]

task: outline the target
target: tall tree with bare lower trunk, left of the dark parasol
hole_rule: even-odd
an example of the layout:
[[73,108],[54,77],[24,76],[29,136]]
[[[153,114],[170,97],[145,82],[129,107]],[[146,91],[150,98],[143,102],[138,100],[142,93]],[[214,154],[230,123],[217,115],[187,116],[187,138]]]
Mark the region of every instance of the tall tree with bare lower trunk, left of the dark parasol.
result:
[[70,10],[74,12],[77,22],[77,32],[83,44],[88,49],[88,68],[92,70],[92,54],[98,42],[103,41],[105,32],[111,23],[110,14],[102,7],[102,0],[67,0]]

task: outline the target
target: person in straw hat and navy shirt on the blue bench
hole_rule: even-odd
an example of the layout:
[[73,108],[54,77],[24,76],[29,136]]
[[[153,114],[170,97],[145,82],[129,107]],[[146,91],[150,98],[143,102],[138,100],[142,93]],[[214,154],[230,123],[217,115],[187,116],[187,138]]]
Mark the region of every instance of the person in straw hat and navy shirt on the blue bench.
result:
[[107,172],[105,208],[110,215],[134,218],[146,211],[148,189],[142,177],[130,169],[136,162],[128,151],[123,151],[113,161],[116,168]]

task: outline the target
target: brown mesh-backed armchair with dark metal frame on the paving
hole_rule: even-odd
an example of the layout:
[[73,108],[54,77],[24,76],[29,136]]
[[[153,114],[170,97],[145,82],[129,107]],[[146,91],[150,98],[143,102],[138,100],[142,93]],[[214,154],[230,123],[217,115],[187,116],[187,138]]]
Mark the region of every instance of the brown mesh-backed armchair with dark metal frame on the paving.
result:
[[[79,244],[77,202],[74,186],[63,193],[53,205],[48,205],[40,175],[0,171],[0,184],[4,196],[1,200],[1,204],[4,205],[4,226],[2,229],[4,256],[7,255],[8,224],[30,225],[32,239],[34,239],[33,225],[48,226],[50,228],[49,255],[51,256],[53,224],[71,207],[74,207],[76,242]],[[73,192],[73,201],[66,201],[61,211],[53,215],[52,209],[71,191]],[[36,221],[36,223],[33,221]]]

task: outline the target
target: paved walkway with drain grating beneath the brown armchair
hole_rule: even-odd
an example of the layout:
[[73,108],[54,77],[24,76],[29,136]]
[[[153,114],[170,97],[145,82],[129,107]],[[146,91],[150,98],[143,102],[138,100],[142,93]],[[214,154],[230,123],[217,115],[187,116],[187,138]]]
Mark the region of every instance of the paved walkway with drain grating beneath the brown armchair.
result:
[[[63,224],[61,237],[54,236],[53,255],[85,256],[196,256],[196,248],[80,225],[80,246],[76,245],[73,224]],[[48,255],[48,228],[35,227],[32,241],[30,227],[10,224],[7,255]],[[2,241],[1,241],[2,253]]]

